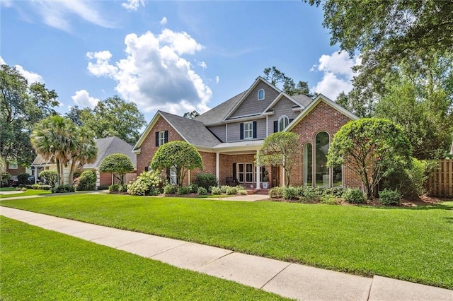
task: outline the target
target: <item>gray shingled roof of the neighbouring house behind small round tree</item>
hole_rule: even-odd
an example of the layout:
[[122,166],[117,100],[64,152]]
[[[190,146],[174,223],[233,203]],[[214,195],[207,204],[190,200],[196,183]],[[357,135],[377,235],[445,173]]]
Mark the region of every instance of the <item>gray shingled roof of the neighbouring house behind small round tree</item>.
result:
[[99,167],[99,165],[101,165],[101,161],[113,153],[124,153],[130,158],[134,164],[134,168],[137,168],[137,155],[132,153],[132,146],[121,138],[107,137],[96,139],[96,146],[98,146],[98,158],[96,158],[96,162],[86,164],[84,165],[84,168]]

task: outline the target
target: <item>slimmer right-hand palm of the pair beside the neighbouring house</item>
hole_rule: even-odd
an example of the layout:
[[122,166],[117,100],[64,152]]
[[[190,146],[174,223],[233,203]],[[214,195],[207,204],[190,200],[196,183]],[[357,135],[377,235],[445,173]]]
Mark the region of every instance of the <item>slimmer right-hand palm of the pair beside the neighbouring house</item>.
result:
[[71,168],[69,170],[69,183],[74,177],[77,163],[79,168],[85,164],[94,163],[98,157],[98,147],[94,141],[94,133],[85,126],[80,126],[77,133],[77,140],[71,152]]

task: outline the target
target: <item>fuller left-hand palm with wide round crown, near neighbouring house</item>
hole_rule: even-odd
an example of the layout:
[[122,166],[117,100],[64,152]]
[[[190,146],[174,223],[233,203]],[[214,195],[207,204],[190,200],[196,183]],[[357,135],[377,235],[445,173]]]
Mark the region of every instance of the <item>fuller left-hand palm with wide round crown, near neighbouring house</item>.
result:
[[76,144],[76,126],[70,119],[52,115],[35,124],[31,143],[36,153],[45,160],[53,157],[57,164],[58,184],[63,182],[63,166],[71,160]]

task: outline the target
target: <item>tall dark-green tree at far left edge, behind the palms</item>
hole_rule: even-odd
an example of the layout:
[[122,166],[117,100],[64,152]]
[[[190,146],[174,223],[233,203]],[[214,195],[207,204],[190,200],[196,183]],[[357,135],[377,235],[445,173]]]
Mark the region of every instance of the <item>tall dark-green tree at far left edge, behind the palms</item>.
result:
[[6,161],[30,165],[35,152],[30,143],[34,124],[55,114],[57,93],[43,83],[32,83],[16,67],[0,66],[0,153]]

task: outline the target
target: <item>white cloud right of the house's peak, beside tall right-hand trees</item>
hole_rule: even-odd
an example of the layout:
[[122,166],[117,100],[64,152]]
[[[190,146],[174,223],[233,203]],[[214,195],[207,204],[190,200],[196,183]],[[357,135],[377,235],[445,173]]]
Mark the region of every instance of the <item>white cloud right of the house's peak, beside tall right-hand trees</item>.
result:
[[356,75],[352,67],[361,63],[360,57],[350,58],[347,52],[333,52],[323,54],[319,58],[319,65],[314,65],[310,71],[322,71],[323,78],[316,83],[314,91],[322,93],[332,100],[336,100],[341,92],[352,90],[352,78]]

